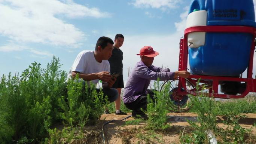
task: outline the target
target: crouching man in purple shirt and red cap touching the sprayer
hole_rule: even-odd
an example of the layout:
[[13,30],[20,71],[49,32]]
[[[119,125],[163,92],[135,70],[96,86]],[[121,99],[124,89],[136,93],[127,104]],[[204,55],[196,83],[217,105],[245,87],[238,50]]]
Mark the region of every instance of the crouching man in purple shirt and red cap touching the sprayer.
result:
[[148,88],[150,80],[172,80],[176,77],[189,77],[188,71],[170,72],[169,68],[159,68],[152,65],[154,57],[159,55],[151,46],[140,49],[140,62],[137,62],[128,77],[124,88],[123,101],[125,107],[132,110],[132,117],[147,119],[147,115],[141,111],[147,109],[147,94],[153,98],[154,93]]

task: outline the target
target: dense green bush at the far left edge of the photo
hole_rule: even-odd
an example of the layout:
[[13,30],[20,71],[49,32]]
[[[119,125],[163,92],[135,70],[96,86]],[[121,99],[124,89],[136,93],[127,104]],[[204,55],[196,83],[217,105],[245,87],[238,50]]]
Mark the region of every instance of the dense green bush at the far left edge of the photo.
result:
[[[4,77],[2,77],[4,79]],[[6,128],[13,131],[12,137],[18,140],[27,121],[26,97],[22,94],[20,88],[20,79],[18,76],[11,76],[9,73],[6,79],[5,88],[1,91],[1,118]],[[2,83],[3,84],[3,83]],[[7,129],[3,131],[8,131]]]

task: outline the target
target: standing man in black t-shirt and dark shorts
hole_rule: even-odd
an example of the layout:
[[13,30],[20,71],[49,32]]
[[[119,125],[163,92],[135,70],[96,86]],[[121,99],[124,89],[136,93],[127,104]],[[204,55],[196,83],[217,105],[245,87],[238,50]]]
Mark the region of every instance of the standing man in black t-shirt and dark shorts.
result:
[[[118,90],[118,98],[115,101],[116,104],[116,111],[115,114],[123,114],[126,115],[120,110],[121,105],[121,90],[124,88],[124,79],[123,79],[123,52],[120,47],[124,43],[124,36],[122,34],[116,34],[115,36],[115,44],[114,49],[112,51],[112,56],[109,58],[110,64],[110,74],[116,73],[119,76],[116,78],[116,82],[113,84],[112,88],[116,88]],[[105,113],[109,113],[105,111]]]

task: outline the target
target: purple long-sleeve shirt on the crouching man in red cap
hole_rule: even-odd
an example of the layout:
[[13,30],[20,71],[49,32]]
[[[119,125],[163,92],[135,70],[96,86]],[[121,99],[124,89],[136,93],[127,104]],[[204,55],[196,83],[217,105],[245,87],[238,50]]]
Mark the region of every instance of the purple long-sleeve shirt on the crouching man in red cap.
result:
[[151,65],[147,67],[142,61],[137,62],[131,71],[124,88],[124,103],[134,102],[139,96],[146,94],[150,80],[171,80],[174,72]]

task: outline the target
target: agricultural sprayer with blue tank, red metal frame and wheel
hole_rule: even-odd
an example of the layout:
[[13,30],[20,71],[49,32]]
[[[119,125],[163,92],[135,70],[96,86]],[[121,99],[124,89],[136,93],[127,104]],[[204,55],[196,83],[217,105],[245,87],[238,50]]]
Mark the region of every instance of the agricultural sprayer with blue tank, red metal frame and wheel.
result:
[[162,85],[171,83],[173,111],[189,110],[189,94],[237,99],[256,92],[255,38],[253,0],[192,0],[180,39],[178,67],[179,71],[190,70],[191,76]]

